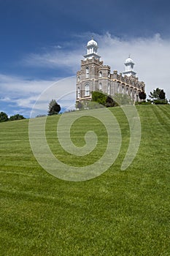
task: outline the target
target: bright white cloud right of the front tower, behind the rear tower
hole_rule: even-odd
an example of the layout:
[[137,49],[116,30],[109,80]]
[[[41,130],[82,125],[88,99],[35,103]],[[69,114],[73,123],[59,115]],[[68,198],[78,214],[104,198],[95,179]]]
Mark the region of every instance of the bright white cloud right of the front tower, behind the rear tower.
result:
[[139,80],[146,83],[147,95],[150,91],[159,87],[166,91],[166,97],[170,98],[170,39],[162,39],[160,34],[155,37],[137,39],[119,39],[110,34],[97,36],[98,53],[102,56],[104,64],[109,64],[118,72],[123,72],[124,61],[131,53],[135,62],[134,70]]

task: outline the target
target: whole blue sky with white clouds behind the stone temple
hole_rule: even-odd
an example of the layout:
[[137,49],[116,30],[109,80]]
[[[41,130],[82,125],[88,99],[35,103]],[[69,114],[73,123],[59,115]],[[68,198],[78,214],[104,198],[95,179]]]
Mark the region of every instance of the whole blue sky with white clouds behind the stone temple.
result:
[[[168,0],[1,0],[0,111],[30,116],[42,91],[76,75],[92,35],[104,64],[122,72],[131,53],[147,94],[160,87],[170,99],[169,12]],[[51,96],[59,103],[62,89],[57,83]],[[61,107],[74,104],[73,95]]]

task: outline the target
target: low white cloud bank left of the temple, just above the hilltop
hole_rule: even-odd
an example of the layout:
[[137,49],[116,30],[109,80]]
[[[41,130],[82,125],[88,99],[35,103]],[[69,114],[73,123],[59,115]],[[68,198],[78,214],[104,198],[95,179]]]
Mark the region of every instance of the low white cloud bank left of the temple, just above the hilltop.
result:
[[[14,76],[0,75],[0,103],[7,104],[9,108],[12,108],[9,115],[22,113],[23,116],[30,116],[31,109],[34,108],[36,101],[36,116],[40,113],[45,114],[51,99],[56,99],[63,109],[69,108],[75,102],[75,84],[75,77],[53,78],[53,80],[26,80]],[[73,93],[71,93],[72,91]],[[66,95],[69,95],[69,100]]]

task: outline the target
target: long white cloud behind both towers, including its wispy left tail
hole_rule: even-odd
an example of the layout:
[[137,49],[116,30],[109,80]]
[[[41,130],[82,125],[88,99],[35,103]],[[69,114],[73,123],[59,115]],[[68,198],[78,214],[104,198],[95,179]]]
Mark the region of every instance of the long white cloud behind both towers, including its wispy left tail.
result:
[[[91,33],[90,33],[91,34]],[[66,46],[54,50],[49,50],[42,54],[31,54],[26,57],[25,63],[36,67],[62,67],[63,70],[70,69],[73,75],[80,69],[80,60],[83,59],[85,48],[82,47],[80,40],[88,42],[88,35],[82,34],[75,37],[74,50],[69,50]],[[104,64],[111,66],[112,70],[117,69],[118,72],[123,72],[124,61],[131,54],[134,59],[134,69],[137,72],[139,80],[144,80],[146,83],[147,95],[150,91],[159,87],[166,91],[166,97],[170,98],[170,72],[169,72],[169,59],[170,59],[170,39],[162,39],[160,34],[155,34],[150,38],[125,38],[112,37],[107,33],[104,35],[93,34],[94,39],[98,42],[98,54]]]

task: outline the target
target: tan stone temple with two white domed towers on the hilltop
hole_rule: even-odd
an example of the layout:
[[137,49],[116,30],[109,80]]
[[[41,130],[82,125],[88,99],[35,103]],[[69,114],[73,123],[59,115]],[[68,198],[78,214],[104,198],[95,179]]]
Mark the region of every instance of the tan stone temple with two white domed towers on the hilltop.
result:
[[104,94],[128,94],[134,102],[140,101],[139,92],[144,91],[144,82],[139,81],[134,72],[134,61],[128,57],[125,60],[125,71],[118,74],[111,72],[98,55],[98,44],[92,38],[87,44],[87,53],[81,61],[81,69],[77,72],[77,102],[91,100],[93,91]]

